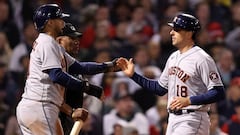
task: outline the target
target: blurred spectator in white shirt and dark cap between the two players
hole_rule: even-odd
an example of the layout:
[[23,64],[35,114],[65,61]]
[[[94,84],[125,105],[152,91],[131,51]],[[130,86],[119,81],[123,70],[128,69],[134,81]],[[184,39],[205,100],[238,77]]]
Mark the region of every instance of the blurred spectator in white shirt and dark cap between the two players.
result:
[[142,113],[134,111],[135,106],[129,93],[128,81],[126,82],[124,79],[116,80],[113,87],[114,92],[112,94],[115,107],[110,113],[103,116],[104,135],[113,134],[114,125],[119,121],[134,126],[140,135],[149,134],[146,117]]

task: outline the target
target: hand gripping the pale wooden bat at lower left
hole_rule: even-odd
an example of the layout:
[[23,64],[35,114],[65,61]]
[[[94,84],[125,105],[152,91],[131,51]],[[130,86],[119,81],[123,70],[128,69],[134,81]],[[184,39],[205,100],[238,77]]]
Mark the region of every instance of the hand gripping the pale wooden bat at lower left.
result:
[[77,108],[72,113],[73,120],[82,120],[85,121],[88,117],[88,111],[84,108]]

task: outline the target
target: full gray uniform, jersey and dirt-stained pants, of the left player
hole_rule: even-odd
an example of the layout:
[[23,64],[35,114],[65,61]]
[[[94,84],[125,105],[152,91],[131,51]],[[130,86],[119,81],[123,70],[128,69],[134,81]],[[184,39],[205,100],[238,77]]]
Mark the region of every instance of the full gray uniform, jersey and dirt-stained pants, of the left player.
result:
[[58,107],[63,102],[64,87],[53,83],[45,71],[52,68],[66,71],[74,61],[51,36],[39,34],[31,52],[22,100],[17,106],[17,120],[24,135],[58,134]]

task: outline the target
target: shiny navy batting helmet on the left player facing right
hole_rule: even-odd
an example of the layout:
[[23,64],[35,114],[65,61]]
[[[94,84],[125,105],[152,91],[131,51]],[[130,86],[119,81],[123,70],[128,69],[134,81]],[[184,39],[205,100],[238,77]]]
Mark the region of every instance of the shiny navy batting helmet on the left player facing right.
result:
[[62,13],[57,4],[45,4],[37,8],[33,15],[33,22],[38,31],[43,30],[49,19],[69,17],[69,14]]

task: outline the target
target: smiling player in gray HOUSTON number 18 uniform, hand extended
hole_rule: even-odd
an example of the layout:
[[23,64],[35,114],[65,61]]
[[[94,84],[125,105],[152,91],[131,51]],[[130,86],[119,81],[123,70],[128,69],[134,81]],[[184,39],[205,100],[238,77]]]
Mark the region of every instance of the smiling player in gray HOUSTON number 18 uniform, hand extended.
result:
[[167,60],[158,81],[134,72],[132,59],[117,64],[136,83],[162,96],[168,93],[167,135],[208,135],[210,104],[224,99],[224,87],[213,59],[194,43],[199,20],[178,14],[171,23],[172,44],[178,48]]

